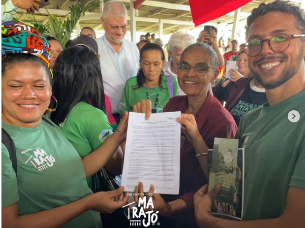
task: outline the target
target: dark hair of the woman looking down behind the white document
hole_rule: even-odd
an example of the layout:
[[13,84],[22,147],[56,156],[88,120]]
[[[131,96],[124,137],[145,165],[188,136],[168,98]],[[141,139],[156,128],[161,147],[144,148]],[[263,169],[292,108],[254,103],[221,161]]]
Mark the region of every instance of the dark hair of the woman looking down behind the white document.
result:
[[[141,64],[141,61],[143,59],[143,53],[144,51],[150,51],[150,50],[158,50],[161,52],[161,56],[162,56],[162,60],[165,60],[165,56],[164,56],[164,52],[163,52],[163,49],[158,45],[158,44],[145,44],[141,51],[140,51],[140,64]],[[159,77],[159,86],[161,87],[162,89],[162,76],[163,76],[163,71],[161,71],[161,74],[160,74],[160,77]],[[134,89],[139,89],[143,86],[143,84],[145,83],[145,76],[144,76],[144,73],[143,73],[143,70],[142,68],[140,67],[138,73],[137,73],[137,86],[135,86]]]

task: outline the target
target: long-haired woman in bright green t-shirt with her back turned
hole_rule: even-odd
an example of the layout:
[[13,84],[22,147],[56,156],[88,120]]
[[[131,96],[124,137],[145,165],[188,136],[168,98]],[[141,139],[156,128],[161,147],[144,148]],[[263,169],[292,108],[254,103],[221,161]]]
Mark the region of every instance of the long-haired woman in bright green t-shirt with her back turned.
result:
[[[92,42],[93,38],[86,37]],[[97,44],[96,44],[97,46]],[[58,109],[51,120],[62,128],[66,138],[84,158],[112,134],[105,107],[105,95],[100,61],[88,47],[78,45],[64,50],[54,67],[53,93]],[[86,162],[86,159],[83,159]],[[113,175],[121,174],[123,151],[120,147],[104,167]],[[93,178],[88,186],[93,188]]]

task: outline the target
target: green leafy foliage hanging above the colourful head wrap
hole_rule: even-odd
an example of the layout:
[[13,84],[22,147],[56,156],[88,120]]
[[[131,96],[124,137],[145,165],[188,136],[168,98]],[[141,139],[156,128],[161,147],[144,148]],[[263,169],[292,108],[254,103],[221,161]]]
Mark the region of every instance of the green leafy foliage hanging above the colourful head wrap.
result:
[[85,12],[97,8],[100,4],[99,0],[89,1],[88,4],[86,2],[76,1],[73,6],[69,7],[69,13],[64,19],[48,12],[49,18],[45,23],[38,21],[34,16],[32,21],[26,22],[31,22],[41,34],[56,37],[60,45],[65,47],[67,41],[71,39],[77,21],[85,15]]

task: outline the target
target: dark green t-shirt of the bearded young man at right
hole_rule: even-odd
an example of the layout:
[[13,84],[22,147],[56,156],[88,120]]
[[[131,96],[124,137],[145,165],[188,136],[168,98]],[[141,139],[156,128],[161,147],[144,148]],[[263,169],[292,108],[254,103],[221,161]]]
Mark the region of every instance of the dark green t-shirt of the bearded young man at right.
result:
[[[298,122],[288,120],[296,110]],[[245,147],[243,220],[279,217],[289,186],[305,189],[305,90],[289,99],[249,112],[239,125]]]

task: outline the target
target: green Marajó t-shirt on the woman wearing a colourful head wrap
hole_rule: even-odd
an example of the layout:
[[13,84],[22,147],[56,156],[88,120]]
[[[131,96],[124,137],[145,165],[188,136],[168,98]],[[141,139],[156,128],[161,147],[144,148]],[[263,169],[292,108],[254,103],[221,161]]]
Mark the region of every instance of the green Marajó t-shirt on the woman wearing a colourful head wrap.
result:
[[[78,153],[57,126],[42,121],[23,128],[2,121],[2,127],[13,139],[17,156],[16,178],[2,144],[2,207],[17,202],[19,215],[31,214],[92,194]],[[63,227],[102,227],[100,214],[86,211]]]

